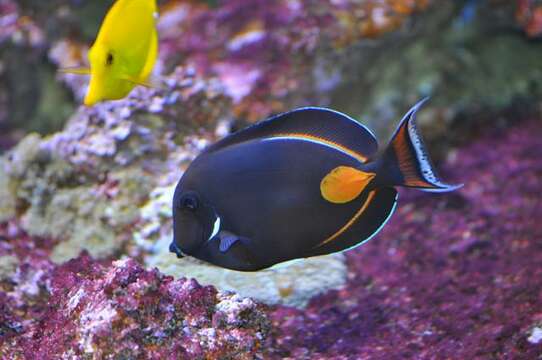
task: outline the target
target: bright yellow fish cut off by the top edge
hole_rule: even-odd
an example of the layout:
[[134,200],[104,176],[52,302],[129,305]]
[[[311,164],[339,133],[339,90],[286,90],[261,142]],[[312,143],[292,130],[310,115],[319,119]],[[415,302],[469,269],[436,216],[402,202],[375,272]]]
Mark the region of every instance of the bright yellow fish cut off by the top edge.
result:
[[84,103],[122,99],[136,85],[151,86],[149,75],[158,55],[156,0],[117,0],[88,53],[90,69],[63,69],[90,74]]

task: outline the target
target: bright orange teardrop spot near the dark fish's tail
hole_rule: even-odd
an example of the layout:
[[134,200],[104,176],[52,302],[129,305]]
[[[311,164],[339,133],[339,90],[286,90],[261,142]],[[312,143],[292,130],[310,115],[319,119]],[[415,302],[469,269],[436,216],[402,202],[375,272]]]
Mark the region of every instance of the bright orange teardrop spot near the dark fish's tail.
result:
[[374,173],[338,166],[322,179],[320,192],[327,201],[344,204],[357,198],[374,177]]

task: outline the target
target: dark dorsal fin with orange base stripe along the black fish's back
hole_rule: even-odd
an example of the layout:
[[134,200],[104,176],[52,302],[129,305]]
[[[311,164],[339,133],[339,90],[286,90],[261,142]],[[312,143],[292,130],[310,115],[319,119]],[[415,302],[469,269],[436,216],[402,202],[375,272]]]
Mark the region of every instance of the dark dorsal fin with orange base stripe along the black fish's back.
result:
[[377,151],[374,135],[351,117],[326,108],[306,107],[271,117],[233,133],[209,146],[204,153],[254,139],[292,137],[336,146],[366,162]]

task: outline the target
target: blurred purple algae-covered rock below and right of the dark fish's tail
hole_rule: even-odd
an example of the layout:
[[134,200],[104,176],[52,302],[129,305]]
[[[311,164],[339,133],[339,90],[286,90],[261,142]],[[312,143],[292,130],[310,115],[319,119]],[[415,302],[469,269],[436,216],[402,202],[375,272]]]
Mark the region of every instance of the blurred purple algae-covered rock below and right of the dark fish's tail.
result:
[[343,290],[272,313],[292,359],[538,359],[542,355],[542,127],[457,152],[446,195],[403,191],[382,233],[347,253]]

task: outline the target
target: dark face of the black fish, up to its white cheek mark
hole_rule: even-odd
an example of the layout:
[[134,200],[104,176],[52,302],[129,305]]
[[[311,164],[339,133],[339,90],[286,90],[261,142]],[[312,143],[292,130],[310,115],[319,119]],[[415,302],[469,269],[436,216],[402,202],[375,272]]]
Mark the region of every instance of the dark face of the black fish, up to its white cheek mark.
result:
[[172,248],[177,255],[195,255],[218,232],[220,217],[194,190],[176,192],[173,202]]

